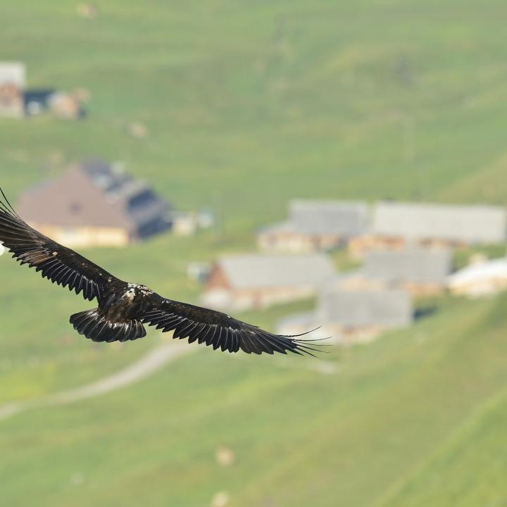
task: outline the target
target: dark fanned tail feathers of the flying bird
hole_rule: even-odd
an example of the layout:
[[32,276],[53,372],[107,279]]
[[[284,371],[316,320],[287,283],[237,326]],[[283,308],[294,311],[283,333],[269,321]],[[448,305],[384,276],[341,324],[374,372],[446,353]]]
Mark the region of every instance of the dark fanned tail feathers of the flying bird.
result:
[[127,342],[146,336],[146,330],[139,320],[111,322],[101,315],[99,308],[70,315],[70,323],[79,334],[94,342]]

